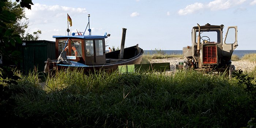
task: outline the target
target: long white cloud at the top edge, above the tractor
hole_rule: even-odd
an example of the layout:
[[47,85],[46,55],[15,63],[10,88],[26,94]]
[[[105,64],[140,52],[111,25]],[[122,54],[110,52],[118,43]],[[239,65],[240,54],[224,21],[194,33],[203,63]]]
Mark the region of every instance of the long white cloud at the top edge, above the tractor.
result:
[[[202,4],[202,3],[194,3],[191,5],[188,5],[184,9],[180,9],[178,11],[179,15],[187,15],[191,13],[197,13],[199,11],[205,11],[205,10],[211,10],[211,11],[217,11],[217,10],[223,10],[228,9],[231,7],[236,7],[237,5],[240,5],[244,3],[246,0],[214,0],[209,2],[208,4]],[[256,0],[254,0],[256,1]],[[256,2],[255,2],[256,3]]]

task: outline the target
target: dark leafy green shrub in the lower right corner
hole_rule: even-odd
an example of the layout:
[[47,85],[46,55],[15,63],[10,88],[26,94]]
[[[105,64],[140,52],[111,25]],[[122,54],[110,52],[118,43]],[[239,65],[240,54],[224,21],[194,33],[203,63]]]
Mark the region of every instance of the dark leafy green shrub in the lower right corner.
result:
[[[233,72],[232,77],[240,86],[245,86],[246,97],[238,95],[232,100],[229,100],[225,106],[227,107],[223,112],[227,115],[227,119],[232,121],[232,127],[243,127],[249,119],[256,117],[256,85],[252,83],[254,78],[249,77],[248,74],[243,73],[242,70]],[[240,123],[239,123],[240,122]],[[252,125],[252,124],[250,124]],[[254,126],[255,127],[255,126]]]

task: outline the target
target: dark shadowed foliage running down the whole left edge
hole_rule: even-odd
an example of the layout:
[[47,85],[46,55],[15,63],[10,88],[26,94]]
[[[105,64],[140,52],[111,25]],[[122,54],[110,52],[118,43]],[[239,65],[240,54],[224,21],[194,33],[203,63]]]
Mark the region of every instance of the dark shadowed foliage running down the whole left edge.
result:
[[[19,2],[19,0],[16,1]],[[4,64],[5,62],[18,63],[19,60],[15,58],[19,56],[19,51],[15,50],[15,46],[22,43],[22,39],[14,33],[13,29],[7,27],[8,23],[15,23],[17,19],[14,12],[4,9],[5,2],[7,0],[0,0],[0,55],[5,59],[3,65],[0,65],[0,120],[2,127],[10,127],[10,125],[14,125],[12,120],[15,120],[12,110],[15,101],[11,99],[13,92],[4,84],[17,84],[16,80],[19,77],[14,75],[11,68]],[[23,7],[31,8],[30,4],[33,4],[31,0],[20,1],[20,5]]]

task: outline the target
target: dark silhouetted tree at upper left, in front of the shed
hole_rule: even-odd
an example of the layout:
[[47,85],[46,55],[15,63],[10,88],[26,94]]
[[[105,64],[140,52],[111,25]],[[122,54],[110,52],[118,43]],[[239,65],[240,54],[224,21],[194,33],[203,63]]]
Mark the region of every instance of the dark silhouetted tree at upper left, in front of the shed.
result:
[[[19,2],[19,0],[16,1]],[[11,79],[14,75],[10,74],[10,69],[6,66],[10,65],[10,62],[17,64],[20,61],[20,52],[16,50],[15,46],[21,44],[22,39],[20,35],[14,33],[12,28],[8,27],[8,24],[15,23],[19,18],[14,12],[7,9],[6,3],[8,0],[0,0],[0,55],[3,61],[3,65],[0,65],[0,77]],[[20,5],[23,7],[31,8],[31,4],[33,4],[31,0],[20,1]]]

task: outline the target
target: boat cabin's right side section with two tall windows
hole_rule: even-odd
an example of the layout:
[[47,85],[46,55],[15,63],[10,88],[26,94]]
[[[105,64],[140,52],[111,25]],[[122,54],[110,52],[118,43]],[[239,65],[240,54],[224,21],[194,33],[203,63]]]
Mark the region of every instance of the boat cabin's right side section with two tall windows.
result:
[[104,64],[106,63],[105,40],[104,39],[88,39],[84,41],[85,47],[85,64]]

